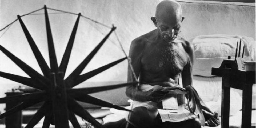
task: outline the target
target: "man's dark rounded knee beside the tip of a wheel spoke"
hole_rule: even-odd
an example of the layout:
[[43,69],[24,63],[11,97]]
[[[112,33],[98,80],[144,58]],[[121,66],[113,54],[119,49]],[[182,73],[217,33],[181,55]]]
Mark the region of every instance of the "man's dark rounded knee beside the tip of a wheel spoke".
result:
[[129,114],[129,123],[135,127],[149,127],[154,125],[157,110],[149,110],[146,107],[135,107]]

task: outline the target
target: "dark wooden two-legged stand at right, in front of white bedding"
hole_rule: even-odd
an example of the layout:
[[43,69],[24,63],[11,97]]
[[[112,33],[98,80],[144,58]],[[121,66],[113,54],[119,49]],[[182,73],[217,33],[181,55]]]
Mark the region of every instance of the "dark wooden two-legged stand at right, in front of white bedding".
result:
[[219,68],[212,68],[211,74],[222,77],[221,128],[229,127],[230,88],[243,90],[242,128],[251,128],[252,85],[255,71],[238,69],[237,61],[224,59]]

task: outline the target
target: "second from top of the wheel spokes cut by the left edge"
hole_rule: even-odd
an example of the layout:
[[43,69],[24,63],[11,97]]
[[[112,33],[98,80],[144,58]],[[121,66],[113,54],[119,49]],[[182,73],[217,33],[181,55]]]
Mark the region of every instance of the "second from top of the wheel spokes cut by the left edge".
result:
[[31,78],[27,78],[27,77],[22,77],[19,75],[14,75],[14,74],[10,74],[10,73],[5,73],[5,72],[1,72],[0,71],[0,77],[6,78],[6,79],[10,79],[12,81],[21,83],[23,85],[27,85],[36,89],[40,89],[43,90],[44,87],[46,86],[44,83],[39,84],[39,82],[34,81]]

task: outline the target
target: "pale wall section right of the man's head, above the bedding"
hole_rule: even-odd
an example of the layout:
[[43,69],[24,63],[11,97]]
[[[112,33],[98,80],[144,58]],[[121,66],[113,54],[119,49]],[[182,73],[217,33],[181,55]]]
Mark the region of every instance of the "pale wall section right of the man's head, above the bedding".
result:
[[[237,3],[237,5],[227,5],[228,2],[180,3],[183,15],[186,17],[181,33],[185,38],[231,34],[255,39],[255,3]],[[230,2],[230,4],[234,3]]]

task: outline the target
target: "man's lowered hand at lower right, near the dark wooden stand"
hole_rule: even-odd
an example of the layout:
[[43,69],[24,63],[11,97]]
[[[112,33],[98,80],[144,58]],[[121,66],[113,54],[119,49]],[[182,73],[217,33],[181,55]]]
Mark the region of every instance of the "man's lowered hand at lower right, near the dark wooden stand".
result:
[[203,115],[205,116],[207,120],[206,125],[210,126],[210,127],[215,127],[221,124],[219,117],[218,117],[218,113],[209,113],[205,110],[202,109]]

